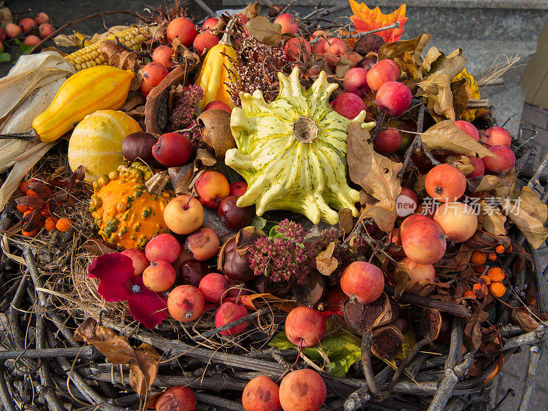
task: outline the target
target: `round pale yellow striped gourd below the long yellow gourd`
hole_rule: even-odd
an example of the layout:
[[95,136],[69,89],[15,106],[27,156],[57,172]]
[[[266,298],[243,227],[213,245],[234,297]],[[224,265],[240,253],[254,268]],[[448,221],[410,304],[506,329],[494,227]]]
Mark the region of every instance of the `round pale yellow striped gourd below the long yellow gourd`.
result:
[[69,164],[86,169],[86,181],[97,179],[123,164],[122,140],[142,129],[124,112],[99,110],[80,121],[69,140]]

